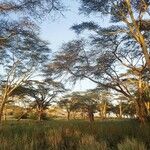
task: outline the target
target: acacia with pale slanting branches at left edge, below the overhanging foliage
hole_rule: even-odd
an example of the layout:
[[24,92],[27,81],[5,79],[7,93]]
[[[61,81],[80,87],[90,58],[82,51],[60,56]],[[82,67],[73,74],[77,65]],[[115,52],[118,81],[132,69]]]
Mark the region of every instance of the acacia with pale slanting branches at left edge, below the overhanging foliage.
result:
[[48,43],[42,41],[36,32],[22,27],[13,28],[15,36],[11,36],[9,44],[1,50],[0,120],[12,92],[38,73],[49,57]]

